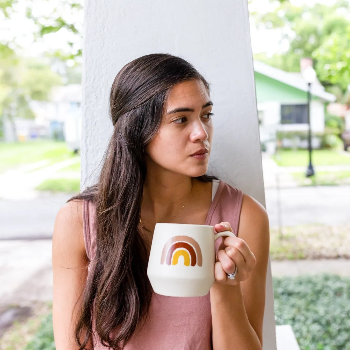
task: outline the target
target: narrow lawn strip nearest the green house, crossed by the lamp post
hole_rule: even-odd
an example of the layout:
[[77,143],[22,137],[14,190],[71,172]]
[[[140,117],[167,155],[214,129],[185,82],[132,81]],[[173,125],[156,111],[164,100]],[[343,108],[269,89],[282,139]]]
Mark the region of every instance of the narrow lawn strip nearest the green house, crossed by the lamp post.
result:
[[[349,153],[350,155],[350,153]],[[297,151],[280,149],[278,154],[272,159],[282,167],[307,167],[309,163],[309,153],[307,150],[299,149]],[[315,149],[312,151],[313,165],[350,165],[350,156],[330,151],[328,149]]]

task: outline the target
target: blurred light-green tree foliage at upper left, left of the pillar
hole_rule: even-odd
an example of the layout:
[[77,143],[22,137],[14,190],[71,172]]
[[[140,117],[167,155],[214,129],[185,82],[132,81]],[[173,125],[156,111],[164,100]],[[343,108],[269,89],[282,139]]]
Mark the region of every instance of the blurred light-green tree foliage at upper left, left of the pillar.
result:
[[[39,1],[45,3],[49,0]],[[52,63],[74,60],[82,54],[81,45],[79,46],[82,33],[73,22],[75,17],[65,18],[65,14],[72,14],[82,9],[80,0],[59,0],[57,2],[59,6],[54,7],[46,16],[37,11],[39,1],[1,0],[0,20],[4,21],[3,23],[6,21],[10,23],[13,16],[25,6],[23,19],[28,18],[34,24],[35,29],[32,33],[34,41],[40,41],[46,35],[65,30],[76,38],[78,48],[74,42],[68,42],[70,47],[68,52],[58,49],[54,52],[43,52],[41,58],[27,58],[23,57],[23,50],[16,45],[16,37],[7,41],[4,37],[0,38],[0,136],[5,118],[11,122],[16,134],[14,118],[34,118],[30,101],[47,100],[51,87],[62,84],[62,77],[51,69]],[[3,27],[6,27],[6,23]],[[64,63],[62,65],[65,66]],[[65,70],[67,78],[69,74],[74,75],[72,69],[65,66]],[[73,78],[78,79],[75,76]]]

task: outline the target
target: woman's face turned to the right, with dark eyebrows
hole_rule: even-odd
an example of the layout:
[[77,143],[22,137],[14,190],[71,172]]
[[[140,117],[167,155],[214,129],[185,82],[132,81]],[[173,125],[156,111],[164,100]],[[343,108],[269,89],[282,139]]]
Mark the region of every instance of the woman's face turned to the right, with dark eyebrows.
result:
[[[213,135],[211,110],[202,80],[176,84],[170,91],[160,130],[146,148],[150,161],[174,173],[204,175]],[[202,154],[193,155],[198,151]]]

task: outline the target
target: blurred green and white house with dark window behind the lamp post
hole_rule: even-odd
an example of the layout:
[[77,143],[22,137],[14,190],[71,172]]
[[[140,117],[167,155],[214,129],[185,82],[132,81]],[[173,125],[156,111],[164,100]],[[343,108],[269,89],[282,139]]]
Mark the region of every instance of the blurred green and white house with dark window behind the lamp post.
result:
[[[302,67],[300,72],[286,72],[254,60],[260,141],[265,145],[267,152],[273,153],[275,151],[277,131],[308,130],[308,85],[302,77],[302,70],[306,68],[306,65],[302,60],[300,63]],[[336,96],[326,92],[318,80],[311,85],[311,95],[311,130],[313,133],[323,133],[326,105],[329,102],[334,102]],[[301,145],[298,146],[307,146],[303,145],[306,143],[303,141],[301,140]],[[318,142],[317,138],[313,138],[314,147],[319,146]],[[291,145],[283,146],[289,147]]]

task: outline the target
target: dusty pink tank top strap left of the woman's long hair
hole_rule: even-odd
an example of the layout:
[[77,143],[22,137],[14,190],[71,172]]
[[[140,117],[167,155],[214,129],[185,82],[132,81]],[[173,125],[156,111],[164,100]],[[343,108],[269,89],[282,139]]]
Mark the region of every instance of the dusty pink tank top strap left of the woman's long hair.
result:
[[83,200],[83,231],[87,258],[93,260],[96,254],[95,206],[91,201]]

